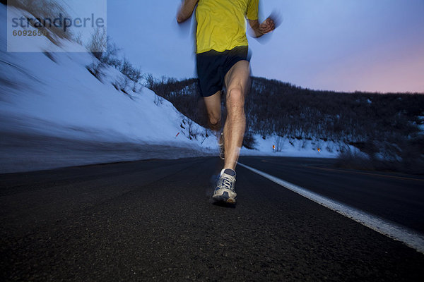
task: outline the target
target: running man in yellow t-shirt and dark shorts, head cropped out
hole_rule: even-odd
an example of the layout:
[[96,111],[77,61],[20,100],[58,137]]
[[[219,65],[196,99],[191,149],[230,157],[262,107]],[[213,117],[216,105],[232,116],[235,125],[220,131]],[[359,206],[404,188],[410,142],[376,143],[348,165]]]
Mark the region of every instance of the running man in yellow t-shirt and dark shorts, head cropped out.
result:
[[[259,24],[259,0],[184,0],[177,22],[189,19],[196,5],[200,92],[206,104],[209,127],[218,135],[220,157],[224,159],[213,200],[235,203],[235,166],[245,135],[245,96],[250,78],[246,19],[254,37],[271,32],[275,25],[271,18]],[[220,97],[224,86],[228,114],[220,133]]]

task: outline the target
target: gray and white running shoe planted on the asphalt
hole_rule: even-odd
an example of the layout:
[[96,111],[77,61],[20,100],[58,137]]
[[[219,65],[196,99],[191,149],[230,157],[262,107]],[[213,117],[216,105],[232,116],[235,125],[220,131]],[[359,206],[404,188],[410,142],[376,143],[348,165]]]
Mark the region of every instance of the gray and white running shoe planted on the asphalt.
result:
[[235,204],[235,171],[230,168],[223,169],[220,173],[218,183],[216,184],[215,191],[213,191],[213,200],[216,202],[226,202]]

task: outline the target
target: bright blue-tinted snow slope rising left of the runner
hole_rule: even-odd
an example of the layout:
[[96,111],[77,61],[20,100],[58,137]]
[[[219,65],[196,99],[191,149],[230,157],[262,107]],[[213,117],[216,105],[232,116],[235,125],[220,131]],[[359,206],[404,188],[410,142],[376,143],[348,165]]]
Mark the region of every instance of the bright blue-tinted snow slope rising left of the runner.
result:
[[[20,10],[14,11],[20,17]],[[6,6],[2,4],[0,19],[6,21]],[[129,90],[128,94],[124,94],[115,89],[112,84],[125,79],[115,68],[105,66],[100,81],[87,69],[96,60],[91,54],[49,53],[49,45],[52,44],[45,37],[39,37],[37,43],[39,52],[8,53],[6,29],[0,30],[2,162],[5,162],[5,147],[13,143],[10,137],[6,138],[11,133],[134,143],[144,147],[163,145],[184,148],[189,156],[208,154],[211,149],[216,149],[215,138],[202,137],[205,129],[199,125],[192,125],[194,131],[201,133],[198,140],[190,140],[188,128],[183,123],[187,118],[170,102],[162,100],[158,103],[158,97],[151,90],[136,85],[136,92]],[[83,48],[67,40],[61,43],[74,44],[72,49]],[[8,144],[5,145],[6,139]],[[30,141],[30,137],[26,139]],[[9,148],[7,154],[11,151],[13,149]],[[181,154],[178,156],[181,157]],[[160,156],[148,154],[137,157],[172,158],[172,154],[164,152]],[[90,159],[90,154],[86,158]],[[112,159],[119,160],[120,157]],[[8,164],[12,162],[8,160]]]

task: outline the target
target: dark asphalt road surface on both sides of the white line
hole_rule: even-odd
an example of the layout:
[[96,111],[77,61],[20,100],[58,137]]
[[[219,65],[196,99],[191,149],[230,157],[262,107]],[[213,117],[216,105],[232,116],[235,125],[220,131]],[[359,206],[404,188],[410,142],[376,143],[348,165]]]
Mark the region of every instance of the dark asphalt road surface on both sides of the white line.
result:
[[[240,161],[423,228],[419,177],[319,159]],[[246,168],[237,168],[237,206],[213,204],[219,171],[209,157],[0,175],[0,279],[424,281],[420,252]]]

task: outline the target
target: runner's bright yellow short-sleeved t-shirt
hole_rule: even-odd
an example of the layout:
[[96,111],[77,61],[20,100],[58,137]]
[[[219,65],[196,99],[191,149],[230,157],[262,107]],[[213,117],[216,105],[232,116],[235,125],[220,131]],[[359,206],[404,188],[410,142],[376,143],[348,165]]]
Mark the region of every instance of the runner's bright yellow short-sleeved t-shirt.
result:
[[259,0],[199,0],[196,53],[247,46],[246,18],[258,19]]

